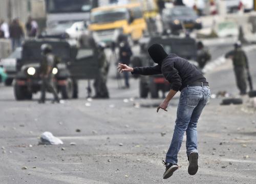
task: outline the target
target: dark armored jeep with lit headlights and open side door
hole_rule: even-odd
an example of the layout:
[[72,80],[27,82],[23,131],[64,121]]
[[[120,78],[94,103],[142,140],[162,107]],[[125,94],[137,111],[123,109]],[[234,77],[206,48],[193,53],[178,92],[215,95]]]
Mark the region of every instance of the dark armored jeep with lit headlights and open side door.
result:
[[77,47],[76,40],[34,39],[23,44],[22,59],[17,65],[14,84],[16,100],[32,99],[40,90],[39,66],[42,60],[40,47],[48,43],[59,62],[53,68],[55,86],[63,99],[78,97],[78,79],[93,79],[98,63],[93,49]]

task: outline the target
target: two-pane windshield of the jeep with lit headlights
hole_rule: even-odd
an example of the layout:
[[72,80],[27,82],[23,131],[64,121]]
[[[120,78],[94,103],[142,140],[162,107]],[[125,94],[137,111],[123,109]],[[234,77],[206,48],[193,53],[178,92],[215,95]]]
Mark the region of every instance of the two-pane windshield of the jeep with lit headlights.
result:
[[[23,55],[22,58],[26,62],[26,60],[39,60],[42,58],[41,56],[41,45],[43,43],[27,43],[23,47]],[[53,48],[53,54],[60,57],[62,60],[67,60],[70,58],[70,47],[67,44],[58,44],[58,43],[50,43]],[[39,62],[39,61],[38,61]]]

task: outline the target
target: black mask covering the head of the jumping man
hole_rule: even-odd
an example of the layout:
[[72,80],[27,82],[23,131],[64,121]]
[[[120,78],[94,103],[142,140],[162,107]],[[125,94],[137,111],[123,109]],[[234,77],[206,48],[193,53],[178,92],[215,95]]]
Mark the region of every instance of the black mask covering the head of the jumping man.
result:
[[160,44],[153,44],[148,48],[148,54],[157,64],[161,64],[162,61],[168,56]]

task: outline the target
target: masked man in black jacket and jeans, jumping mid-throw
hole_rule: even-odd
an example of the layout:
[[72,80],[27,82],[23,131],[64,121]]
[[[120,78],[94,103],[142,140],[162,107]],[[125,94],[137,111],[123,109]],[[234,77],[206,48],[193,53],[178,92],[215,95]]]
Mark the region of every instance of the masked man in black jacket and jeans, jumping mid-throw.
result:
[[208,82],[194,65],[175,54],[166,54],[160,44],[151,45],[148,53],[157,63],[156,66],[132,68],[119,64],[117,69],[119,72],[132,72],[132,74],[140,75],[163,74],[164,78],[170,82],[171,89],[165,100],[158,106],[157,112],[159,109],[167,111],[169,101],[179,90],[181,91],[172,143],[166,153],[165,162],[163,160],[166,167],[163,178],[172,176],[178,169],[177,155],[184,132],[186,132],[187,139],[188,173],[195,175],[198,171],[197,123],[210,98]]

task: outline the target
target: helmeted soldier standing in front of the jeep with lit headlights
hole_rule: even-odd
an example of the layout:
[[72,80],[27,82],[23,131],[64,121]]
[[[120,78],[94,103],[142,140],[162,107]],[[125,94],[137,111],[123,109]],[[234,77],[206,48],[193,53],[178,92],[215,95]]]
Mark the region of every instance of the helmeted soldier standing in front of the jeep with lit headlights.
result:
[[41,45],[42,61],[40,63],[40,77],[42,80],[41,84],[41,97],[38,103],[45,103],[46,90],[54,95],[53,103],[56,101],[59,103],[58,94],[54,88],[54,75],[52,70],[57,65],[57,58],[52,54],[52,46],[50,44]]

